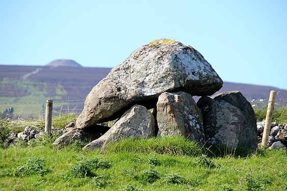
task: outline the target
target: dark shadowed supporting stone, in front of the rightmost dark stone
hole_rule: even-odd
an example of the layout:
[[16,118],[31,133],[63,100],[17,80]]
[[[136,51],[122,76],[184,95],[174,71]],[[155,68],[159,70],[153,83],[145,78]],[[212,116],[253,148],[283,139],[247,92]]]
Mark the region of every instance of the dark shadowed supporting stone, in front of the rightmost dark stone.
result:
[[201,97],[197,105],[203,116],[207,143],[228,146],[229,150],[236,149],[241,139],[240,131],[245,123],[241,110],[224,100],[214,100],[206,96]]

